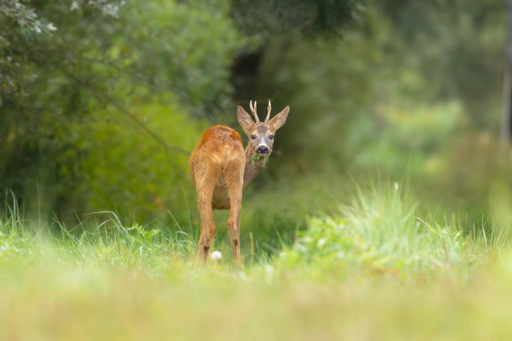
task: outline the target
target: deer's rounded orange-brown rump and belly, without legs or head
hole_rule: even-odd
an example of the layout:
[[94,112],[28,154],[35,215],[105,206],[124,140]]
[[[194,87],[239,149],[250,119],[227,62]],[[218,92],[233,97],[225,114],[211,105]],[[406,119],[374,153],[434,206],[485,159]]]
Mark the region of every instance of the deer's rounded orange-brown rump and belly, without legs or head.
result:
[[[211,207],[229,210],[229,185],[242,190],[245,168],[244,146],[238,132],[226,126],[208,128],[190,156],[190,177],[196,188],[213,188]],[[199,191],[198,191],[199,194]]]

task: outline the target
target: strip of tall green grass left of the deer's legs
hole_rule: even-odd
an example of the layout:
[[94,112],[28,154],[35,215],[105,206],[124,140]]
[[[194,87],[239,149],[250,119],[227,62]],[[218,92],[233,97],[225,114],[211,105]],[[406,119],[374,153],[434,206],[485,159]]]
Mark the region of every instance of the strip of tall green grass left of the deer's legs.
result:
[[[67,228],[58,221],[39,225],[24,219],[15,204],[0,216],[0,262],[54,262],[59,265],[153,269],[169,262],[188,262],[194,255],[191,231],[173,231],[158,221],[125,225],[114,212],[95,228],[82,223]],[[53,226],[51,226],[53,224]],[[90,223],[89,223],[90,224]]]

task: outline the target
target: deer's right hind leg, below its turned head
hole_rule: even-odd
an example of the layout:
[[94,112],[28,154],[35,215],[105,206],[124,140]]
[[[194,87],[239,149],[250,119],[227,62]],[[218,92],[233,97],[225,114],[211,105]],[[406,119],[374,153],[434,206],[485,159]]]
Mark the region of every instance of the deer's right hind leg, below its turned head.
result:
[[242,257],[240,254],[240,213],[242,211],[242,188],[243,188],[243,169],[238,174],[228,179],[229,199],[231,207],[229,208],[229,219],[227,226],[229,238],[231,239],[231,248],[233,251],[233,260],[237,266],[242,266]]

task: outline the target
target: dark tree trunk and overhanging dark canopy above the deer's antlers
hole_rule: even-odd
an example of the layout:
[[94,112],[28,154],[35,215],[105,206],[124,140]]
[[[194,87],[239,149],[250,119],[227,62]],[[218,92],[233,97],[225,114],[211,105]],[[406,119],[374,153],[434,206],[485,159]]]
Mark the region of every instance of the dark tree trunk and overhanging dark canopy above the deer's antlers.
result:
[[296,38],[343,37],[363,10],[354,0],[231,0],[230,15],[250,39],[231,67],[234,99],[246,102],[257,93],[261,62],[276,46],[287,49]]

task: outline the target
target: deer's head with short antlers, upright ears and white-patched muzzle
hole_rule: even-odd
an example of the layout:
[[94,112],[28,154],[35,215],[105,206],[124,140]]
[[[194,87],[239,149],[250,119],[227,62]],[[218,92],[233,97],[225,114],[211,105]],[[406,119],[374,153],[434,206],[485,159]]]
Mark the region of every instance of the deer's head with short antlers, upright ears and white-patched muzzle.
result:
[[290,107],[287,106],[283,109],[283,111],[278,113],[278,115],[275,115],[269,121],[271,109],[269,100],[267,107],[267,118],[264,122],[261,122],[256,113],[256,102],[254,102],[254,107],[252,107],[252,101],[250,102],[249,106],[252,111],[252,115],[254,116],[255,122],[252,121],[251,117],[247,112],[245,112],[244,108],[239,106],[237,110],[238,123],[240,123],[242,129],[244,129],[245,134],[249,138],[247,149],[253,153],[258,153],[260,157],[264,157],[272,152],[275,131],[278,130],[283,124],[285,124],[288,111],[290,111]]

